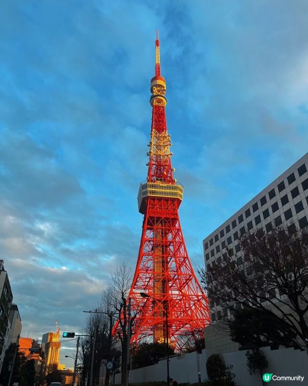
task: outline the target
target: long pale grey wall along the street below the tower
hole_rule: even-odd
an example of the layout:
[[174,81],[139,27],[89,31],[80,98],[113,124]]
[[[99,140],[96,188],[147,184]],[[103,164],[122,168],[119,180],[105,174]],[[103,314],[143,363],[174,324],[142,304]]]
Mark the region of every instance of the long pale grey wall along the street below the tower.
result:
[[[273,373],[278,376],[304,376],[300,384],[308,384],[308,356],[306,352],[294,350],[293,348],[283,348],[271,350],[269,347],[261,349],[268,361],[265,373]],[[237,351],[223,354],[226,364],[233,365],[233,372],[236,374],[237,386],[262,386],[259,374],[251,376],[247,369],[247,358],[245,351]],[[198,356],[200,361],[201,381],[207,379],[206,359],[207,351],[202,350],[202,354],[196,352],[182,354],[178,357],[170,358],[169,369],[170,377],[178,383],[197,383],[198,382]],[[166,381],[167,374],[166,360],[159,363],[143,367],[142,369],[132,370],[129,382],[143,381]],[[115,384],[121,383],[121,374],[115,375]],[[294,385],[294,381],[283,381],[284,386]]]

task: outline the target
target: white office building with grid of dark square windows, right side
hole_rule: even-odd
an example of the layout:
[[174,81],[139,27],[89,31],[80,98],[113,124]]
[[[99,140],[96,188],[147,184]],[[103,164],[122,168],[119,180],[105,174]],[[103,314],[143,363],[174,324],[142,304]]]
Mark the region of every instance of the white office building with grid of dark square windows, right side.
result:
[[[308,225],[308,153],[288,168],[256,197],[239,209],[203,240],[206,268],[214,261],[220,264],[226,248],[237,256],[237,264],[243,264],[244,256],[238,239],[247,231],[263,227],[269,232],[275,226],[303,228]],[[210,301],[210,299],[209,299]],[[210,302],[211,305],[211,302]],[[206,348],[217,353],[238,349],[230,341],[228,332],[215,328],[215,322],[227,310],[211,310],[212,324],[205,329]]]

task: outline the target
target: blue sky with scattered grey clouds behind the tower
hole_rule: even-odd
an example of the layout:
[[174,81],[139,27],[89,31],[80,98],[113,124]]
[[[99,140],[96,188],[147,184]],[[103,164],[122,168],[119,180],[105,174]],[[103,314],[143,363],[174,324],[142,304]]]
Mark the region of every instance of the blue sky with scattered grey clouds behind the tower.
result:
[[[159,29],[190,258],[307,151],[308,3],[6,0],[0,12],[0,257],[22,335],[80,330],[134,269]],[[61,362],[73,343],[64,343]]]

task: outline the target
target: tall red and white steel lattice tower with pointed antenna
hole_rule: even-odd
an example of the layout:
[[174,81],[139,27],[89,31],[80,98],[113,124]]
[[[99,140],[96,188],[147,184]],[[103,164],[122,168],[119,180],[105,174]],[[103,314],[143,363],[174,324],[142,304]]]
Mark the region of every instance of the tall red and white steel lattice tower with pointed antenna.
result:
[[[136,271],[129,292],[134,319],[131,343],[152,336],[181,349],[178,336],[202,331],[209,324],[208,300],[192,269],[178,208],[183,186],[173,177],[165,106],[166,82],[160,75],[158,34],[156,72],[151,79],[152,125],[147,180],[140,184],[139,212],[144,215]],[[149,297],[142,297],[141,292]],[[166,312],[168,328],[166,329]],[[118,323],[113,328],[117,333]]]

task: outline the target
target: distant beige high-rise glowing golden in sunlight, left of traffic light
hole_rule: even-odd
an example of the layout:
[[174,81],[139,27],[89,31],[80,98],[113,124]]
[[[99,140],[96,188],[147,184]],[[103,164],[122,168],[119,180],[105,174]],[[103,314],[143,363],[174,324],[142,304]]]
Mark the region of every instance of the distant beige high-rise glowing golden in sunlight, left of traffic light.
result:
[[60,361],[60,332],[47,332],[42,337],[42,349],[46,356],[46,373],[57,370]]

